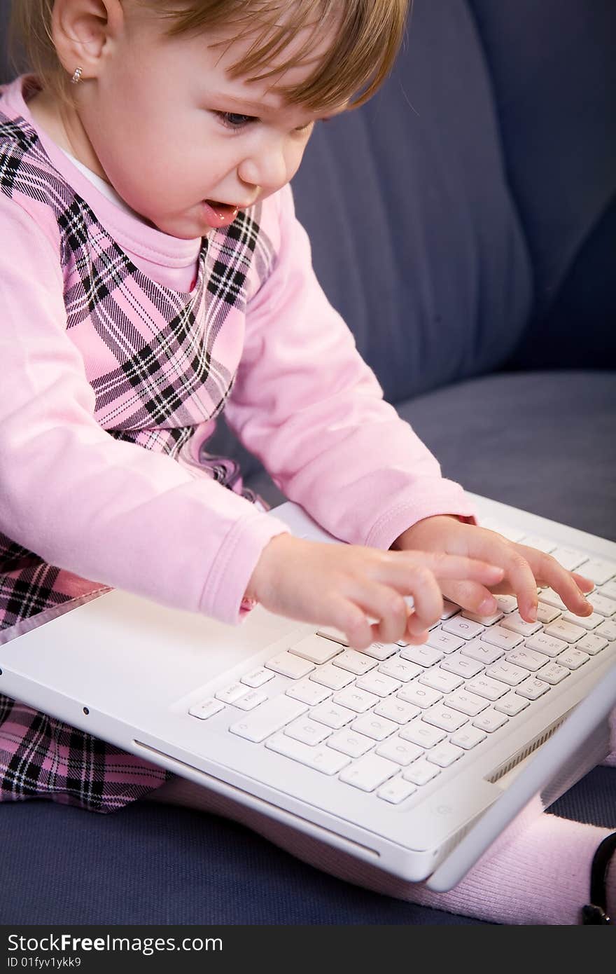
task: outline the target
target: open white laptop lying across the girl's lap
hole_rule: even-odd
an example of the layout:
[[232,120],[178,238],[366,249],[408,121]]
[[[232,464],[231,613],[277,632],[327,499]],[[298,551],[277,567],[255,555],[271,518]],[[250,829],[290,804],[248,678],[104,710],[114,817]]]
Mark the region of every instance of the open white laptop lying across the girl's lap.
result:
[[[363,653],[262,607],[239,626],[115,590],[0,646],[0,693],[406,880],[452,888],[517,812],[608,752],[616,543],[475,494],[482,526],[595,582],[481,621],[445,602],[421,646]],[[337,543],[302,508],[294,534]],[[320,634],[317,634],[320,632]]]

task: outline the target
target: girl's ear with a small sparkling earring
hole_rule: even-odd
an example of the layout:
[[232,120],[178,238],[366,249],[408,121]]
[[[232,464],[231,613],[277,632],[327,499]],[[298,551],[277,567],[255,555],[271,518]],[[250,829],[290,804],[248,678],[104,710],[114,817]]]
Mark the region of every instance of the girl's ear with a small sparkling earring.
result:
[[52,36],[68,74],[80,66],[83,80],[96,77],[124,22],[120,0],[55,0]]

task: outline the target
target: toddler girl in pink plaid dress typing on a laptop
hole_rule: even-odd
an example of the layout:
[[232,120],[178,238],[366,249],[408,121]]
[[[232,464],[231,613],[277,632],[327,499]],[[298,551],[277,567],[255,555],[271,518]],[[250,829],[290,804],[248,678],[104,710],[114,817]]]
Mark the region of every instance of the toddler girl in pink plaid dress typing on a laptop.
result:
[[[378,89],[406,8],[16,4],[31,70],[0,92],[3,641],[106,586],[235,624],[260,602],[334,625],[357,650],[424,642],[443,594],[489,615],[491,593],[511,592],[530,621],[545,584],[592,612],[593,583],[479,527],[382,400],[294,215],[310,132]],[[293,538],[208,455],[223,409],[285,496],[348,544]],[[232,815],[390,895],[507,922],[579,922],[608,835],[520,818],[452,893],[431,894],[353,872],[329,847],[0,697],[2,800],[109,812],[145,797]]]

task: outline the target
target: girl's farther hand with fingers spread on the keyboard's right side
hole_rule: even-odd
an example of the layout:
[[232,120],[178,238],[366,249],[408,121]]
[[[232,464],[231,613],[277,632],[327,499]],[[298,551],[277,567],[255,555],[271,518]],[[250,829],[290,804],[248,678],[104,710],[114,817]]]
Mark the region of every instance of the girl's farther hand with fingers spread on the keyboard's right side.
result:
[[443,594],[452,602],[480,616],[497,612],[496,603],[491,608],[482,604],[490,598],[490,592],[496,592],[499,595],[515,595],[522,618],[527,622],[536,621],[537,585],[550,585],[561,596],[567,609],[577,616],[590,616],[593,612],[593,607],[582,594],[592,591],[592,581],[575,572],[567,572],[552,555],[525,544],[510,542],[489,528],[462,524],[452,514],[437,514],[417,521],[400,535],[395,547],[401,550],[420,548],[422,551],[447,551],[482,558],[504,568],[503,581],[489,587],[470,579],[446,581],[441,585]]

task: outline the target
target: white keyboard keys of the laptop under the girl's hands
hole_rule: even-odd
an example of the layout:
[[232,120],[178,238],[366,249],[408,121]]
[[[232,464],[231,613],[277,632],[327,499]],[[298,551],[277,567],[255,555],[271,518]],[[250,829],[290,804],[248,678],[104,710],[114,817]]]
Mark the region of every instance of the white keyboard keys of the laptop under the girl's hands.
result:
[[616,652],[616,563],[502,524],[494,530],[594,581],[586,596],[593,615],[575,616],[553,589],[538,588],[532,623],[510,595],[494,596],[498,611],[490,617],[446,599],[420,646],[374,643],[359,652],[341,633],[318,629],[189,714],[207,720],[228,708],[229,732],[382,801],[405,801],[533,701],[574,680],[593,656]]

